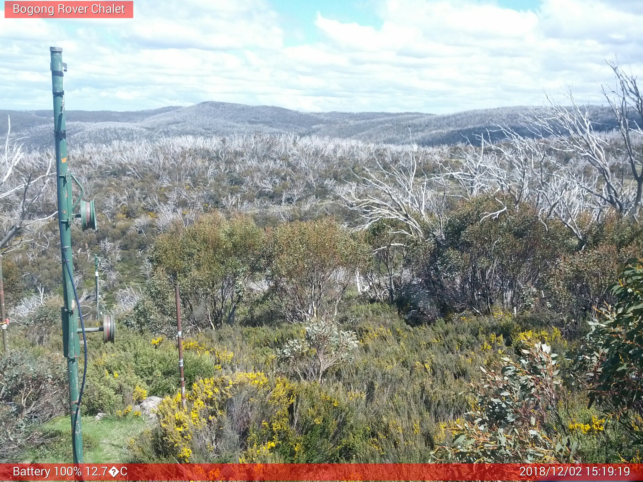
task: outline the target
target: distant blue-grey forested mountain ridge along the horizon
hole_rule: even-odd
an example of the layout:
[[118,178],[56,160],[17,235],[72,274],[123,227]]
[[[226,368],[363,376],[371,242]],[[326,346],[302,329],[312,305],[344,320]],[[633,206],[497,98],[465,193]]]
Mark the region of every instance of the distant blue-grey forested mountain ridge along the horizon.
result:
[[[145,111],[67,111],[67,139],[71,145],[111,143],[115,140],[153,140],[163,136],[226,136],[294,133],[300,136],[358,139],[376,143],[419,145],[473,140],[495,125],[520,125],[529,107],[500,107],[455,114],[423,112],[299,112],[283,107],[201,102],[187,107]],[[592,106],[592,119],[604,129],[615,124],[607,107]],[[51,147],[51,111],[0,110],[0,136],[6,136],[10,116],[12,137],[24,137],[27,149]]]

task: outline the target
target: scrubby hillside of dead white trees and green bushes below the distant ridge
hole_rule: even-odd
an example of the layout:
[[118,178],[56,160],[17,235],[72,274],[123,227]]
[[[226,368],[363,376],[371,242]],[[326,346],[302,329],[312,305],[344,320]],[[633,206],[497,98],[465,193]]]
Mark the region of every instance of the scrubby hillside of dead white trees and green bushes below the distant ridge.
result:
[[[283,124],[68,138],[98,211],[73,231],[81,308],[95,324],[98,254],[118,325],[87,340],[86,461],[638,461],[643,104],[622,99],[616,130],[551,103],[529,137],[433,147]],[[6,146],[20,175],[50,158]],[[3,253],[0,458],[71,460],[55,186],[30,179]],[[3,189],[8,231],[30,198]]]

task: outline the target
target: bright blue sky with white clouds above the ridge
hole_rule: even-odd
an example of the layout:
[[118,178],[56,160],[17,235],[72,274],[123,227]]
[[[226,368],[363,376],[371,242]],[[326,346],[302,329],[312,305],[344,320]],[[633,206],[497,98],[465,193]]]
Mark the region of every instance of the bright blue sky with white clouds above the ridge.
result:
[[[0,8],[3,6],[0,5]],[[5,19],[0,109],[204,101],[444,114],[602,102],[605,60],[643,73],[640,0],[134,0],[134,19]]]

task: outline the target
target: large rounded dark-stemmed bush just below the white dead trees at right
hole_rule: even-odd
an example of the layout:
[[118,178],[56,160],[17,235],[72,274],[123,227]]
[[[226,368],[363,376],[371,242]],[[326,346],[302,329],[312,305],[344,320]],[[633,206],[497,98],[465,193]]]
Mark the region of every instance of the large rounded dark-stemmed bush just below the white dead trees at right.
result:
[[491,197],[462,202],[448,217],[444,239],[420,254],[419,275],[443,312],[492,307],[532,308],[550,267],[567,251],[569,235],[545,224],[529,204],[502,213]]

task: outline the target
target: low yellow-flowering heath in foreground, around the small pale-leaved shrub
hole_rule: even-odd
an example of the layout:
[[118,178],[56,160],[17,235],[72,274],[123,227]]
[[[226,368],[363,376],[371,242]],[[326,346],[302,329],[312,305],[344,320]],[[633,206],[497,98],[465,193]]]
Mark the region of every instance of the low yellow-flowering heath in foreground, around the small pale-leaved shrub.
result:
[[[476,377],[474,367],[507,350],[500,336],[504,319],[467,317],[412,328],[379,303],[356,305],[345,316],[361,343],[351,352],[353,362],[338,364],[323,384],[284,379],[275,363],[284,343],[305,335],[297,325],[224,326],[192,339],[186,353],[218,352],[219,360],[229,353],[231,360],[196,380],[199,387],[212,384],[213,393],[198,418],[192,416],[196,400],[188,397],[185,418],[180,397],[170,397],[166,429],[135,444],[140,460],[150,461],[151,453],[179,461],[190,454],[195,462],[430,460],[434,441],[444,436],[441,424],[467,409],[471,397],[462,392]],[[210,416],[207,426],[193,424]],[[184,426],[190,437],[176,438]]]

